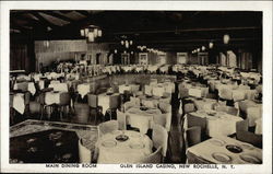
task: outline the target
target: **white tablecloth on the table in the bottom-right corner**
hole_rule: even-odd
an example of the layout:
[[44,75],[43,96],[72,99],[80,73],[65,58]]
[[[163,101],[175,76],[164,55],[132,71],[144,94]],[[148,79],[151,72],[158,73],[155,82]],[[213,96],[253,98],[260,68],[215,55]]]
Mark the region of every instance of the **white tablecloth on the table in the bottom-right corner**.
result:
[[[213,141],[223,141],[223,146],[214,144]],[[193,153],[195,156],[204,159],[206,161],[210,161],[212,163],[216,164],[223,164],[223,162],[219,162],[213,158],[213,153],[221,152],[232,158],[232,161],[228,163],[232,164],[248,164],[247,162],[242,161],[239,155],[241,154],[250,154],[253,155],[262,161],[262,150],[259,148],[252,147],[251,149],[247,149],[242,147],[241,153],[233,153],[226,149],[226,144],[235,144],[235,146],[242,146],[242,144],[249,144],[246,142],[238,141],[236,139],[229,138],[229,137],[219,137],[219,138],[212,138],[206,141],[203,141],[201,143],[198,143],[193,147],[188,148],[187,152]],[[251,144],[249,144],[251,146]]]

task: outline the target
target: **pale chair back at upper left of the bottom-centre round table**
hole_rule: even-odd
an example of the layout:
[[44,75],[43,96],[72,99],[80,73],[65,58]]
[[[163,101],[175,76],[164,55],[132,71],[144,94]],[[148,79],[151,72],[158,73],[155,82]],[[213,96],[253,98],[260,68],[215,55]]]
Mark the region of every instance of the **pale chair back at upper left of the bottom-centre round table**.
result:
[[107,120],[98,125],[98,137],[119,129],[118,120]]

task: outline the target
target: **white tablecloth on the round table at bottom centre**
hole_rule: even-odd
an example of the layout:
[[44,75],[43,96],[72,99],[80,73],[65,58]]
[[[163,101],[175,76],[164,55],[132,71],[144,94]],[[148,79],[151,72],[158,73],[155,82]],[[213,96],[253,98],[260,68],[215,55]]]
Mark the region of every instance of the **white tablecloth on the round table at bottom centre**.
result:
[[[127,141],[120,142],[116,137],[122,134],[120,130],[112,134],[106,134],[96,142],[98,149],[97,163],[103,164],[118,164],[118,163],[135,163],[140,159],[152,153],[152,140],[140,132],[124,130],[126,136],[129,137]],[[106,147],[106,142],[114,142],[115,146]],[[134,146],[143,146],[143,148],[133,148]]]

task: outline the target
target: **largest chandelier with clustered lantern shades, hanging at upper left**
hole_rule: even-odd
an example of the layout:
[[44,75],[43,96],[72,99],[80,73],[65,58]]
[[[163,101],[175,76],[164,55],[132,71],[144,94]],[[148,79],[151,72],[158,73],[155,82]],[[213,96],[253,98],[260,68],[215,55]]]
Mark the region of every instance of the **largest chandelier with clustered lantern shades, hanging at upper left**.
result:
[[88,25],[81,30],[81,36],[86,37],[87,42],[94,43],[97,37],[103,36],[103,31],[98,26]]

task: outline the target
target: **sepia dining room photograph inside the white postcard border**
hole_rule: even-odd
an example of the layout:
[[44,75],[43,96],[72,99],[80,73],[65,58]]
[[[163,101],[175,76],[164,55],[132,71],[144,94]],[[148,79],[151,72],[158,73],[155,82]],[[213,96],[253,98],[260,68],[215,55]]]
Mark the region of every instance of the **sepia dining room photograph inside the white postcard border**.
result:
[[262,12],[10,11],[10,163],[262,164]]

